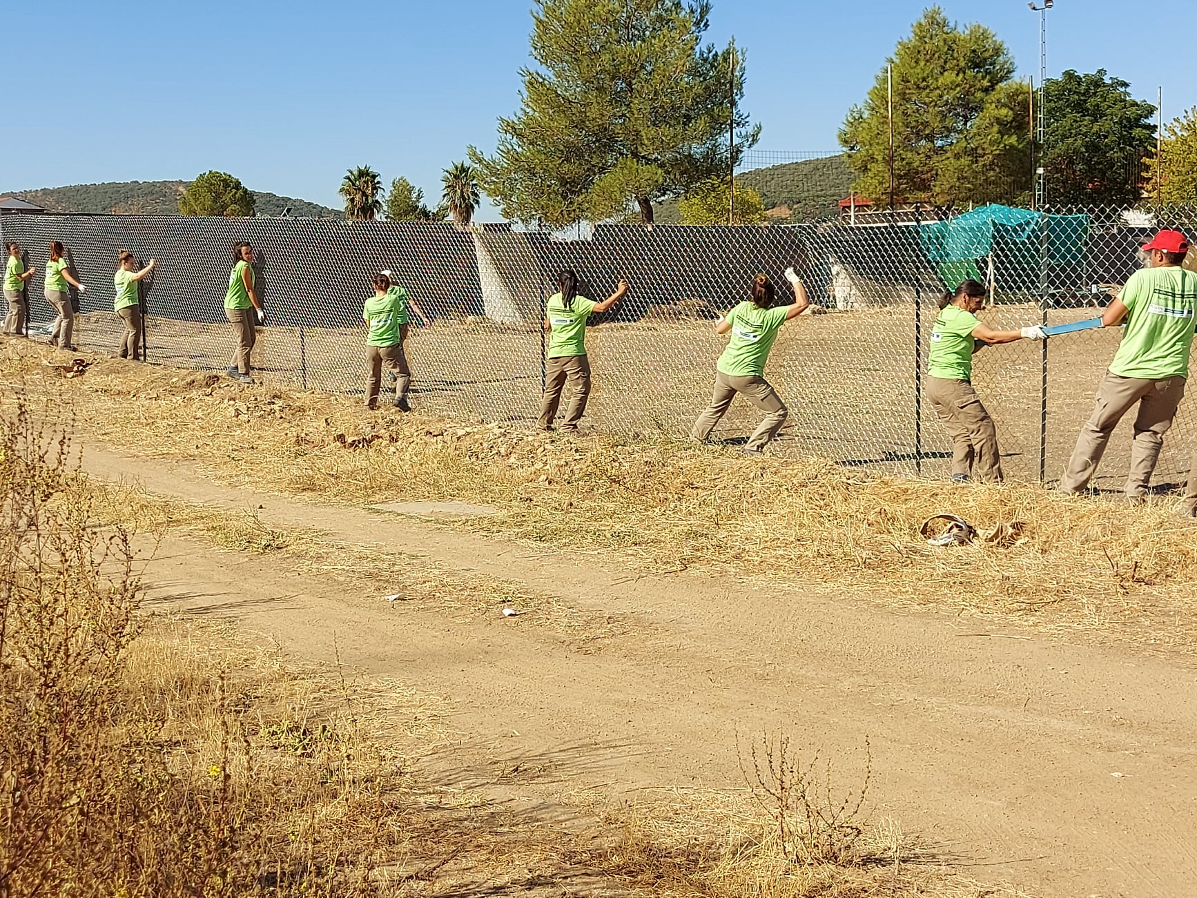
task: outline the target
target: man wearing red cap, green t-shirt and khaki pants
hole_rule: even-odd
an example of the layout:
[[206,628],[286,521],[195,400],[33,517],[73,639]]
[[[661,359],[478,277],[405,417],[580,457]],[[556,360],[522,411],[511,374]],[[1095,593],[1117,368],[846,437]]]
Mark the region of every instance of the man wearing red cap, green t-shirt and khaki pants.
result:
[[1098,386],[1093,414],[1068,460],[1061,492],[1080,492],[1089,485],[1110,435],[1137,405],[1124,489],[1129,499],[1144,498],[1163,435],[1185,395],[1197,323],[1197,274],[1180,267],[1189,253],[1189,241],[1180,231],[1165,230],[1143,251],[1148,254],[1149,267],[1130,277],[1101,316],[1102,327],[1117,327],[1125,321],[1126,330]]

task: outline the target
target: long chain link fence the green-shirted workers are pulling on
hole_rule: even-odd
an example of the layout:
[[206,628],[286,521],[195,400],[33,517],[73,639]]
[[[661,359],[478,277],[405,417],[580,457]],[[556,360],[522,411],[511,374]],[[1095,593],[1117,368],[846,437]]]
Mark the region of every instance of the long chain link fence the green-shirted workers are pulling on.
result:
[[[543,305],[555,275],[573,268],[583,295],[603,299],[620,278],[630,295],[594,316],[587,346],[594,387],[587,421],[625,435],[675,435],[710,399],[725,338],[712,324],[746,297],[759,272],[784,296],[794,266],[812,314],[782,329],[767,376],[790,406],[776,445],[876,471],[944,477],[950,445],[923,377],[936,299],[974,277],[990,286],[991,327],[1064,323],[1099,307],[1142,266],[1138,247],[1160,226],[1197,232],[1197,210],[985,210],[950,218],[911,208],[857,212],[770,227],[598,225],[569,237],[508,226],[473,232],[425,223],[324,219],[196,219],[8,214],[40,272],[62,241],[80,280],[75,342],[111,352],[122,330],[113,314],[119,249],[158,260],[146,296],[152,363],[223,370],[232,330],[223,299],[232,247],[257,254],[267,310],[254,366],[305,389],[360,393],[361,303],[390,268],[429,323],[413,320],[408,357],[413,405],[487,421],[531,424],[543,383]],[[53,313],[31,281],[31,335]],[[1092,411],[1098,381],[1119,339],[1116,328],[1019,341],[977,356],[973,382],[994,415],[1009,477],[1055,479]],[[733,404],[717,437],[743,437],[758,411]],[[1183,405],[1156,472],[1179,484],[1189,468],[1192,415]],[[1130,419],[1111,443],[1095,485],[1120,486]]]

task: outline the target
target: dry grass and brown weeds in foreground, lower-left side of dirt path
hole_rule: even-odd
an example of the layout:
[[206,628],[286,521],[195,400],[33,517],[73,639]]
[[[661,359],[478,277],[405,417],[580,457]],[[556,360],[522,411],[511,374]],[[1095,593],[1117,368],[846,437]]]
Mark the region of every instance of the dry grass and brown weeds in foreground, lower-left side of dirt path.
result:
[[[145,617],[136,535],[113,520],[130,497],[78,477],[69,438],[19,402],[6,412],[4,898],[996,893],[913,863],[892,827],[870,837],[888,854],[796,863],[771,820],[715,801],[692,802],[683,830],[676,805],[655,803],[608,806],[569,832],[485,789],[420,779],[412,760],[445,739],[442,702]],[[159,534],[181,526],[150,502],[124,515]],[[188,526],[237,551],[317,541],[254,520]]]

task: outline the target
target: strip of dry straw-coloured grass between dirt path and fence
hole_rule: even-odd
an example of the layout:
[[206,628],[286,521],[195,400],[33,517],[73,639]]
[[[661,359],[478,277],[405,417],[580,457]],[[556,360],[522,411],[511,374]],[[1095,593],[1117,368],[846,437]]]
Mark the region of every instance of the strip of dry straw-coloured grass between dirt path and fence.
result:
[[[1064,498],[1034,484],[960,489],[679,442],[554,439],[370,415],[345,396],[245,389],[116,360],[63,380],[42,354],[8,344],[0,364],[45,413],[74,409],[108,444],[195,459],[224,481],[326,502],[481,502],[502,514],[452,526],[619,552],[642,570],[700,568],[1114,633],[1149,649],[1197,645],[1197,527],[1167,505]],[[918,527],[940,511],[980,528],[1016,523],[1021,536],[931,550]]]

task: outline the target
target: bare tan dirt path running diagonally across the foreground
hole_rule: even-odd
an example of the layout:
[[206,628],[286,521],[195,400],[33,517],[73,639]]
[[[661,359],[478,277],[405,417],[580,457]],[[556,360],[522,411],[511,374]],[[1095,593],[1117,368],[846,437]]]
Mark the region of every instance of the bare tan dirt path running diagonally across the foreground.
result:
[[146,572],[153,601],[455,699],[462,757],[490,763],[463,777],[522,763],[504,783],[517,791],[521,777],[529,789],[555,779],[615,794],[740,788],[737,733],[784,727],[841,760],[849,783],[868,736],[871,817],[941,842],[977,879],[1045,896],[1193,893],[1191,667],[694,572],[637,580],[616,559],[227,489],[186,463],[89,448],[85,467],[163,497],[262,506],[268,524],[383,542],[634,623],[583,654],[523,618],[389,606],[269,556],[162,547]]

